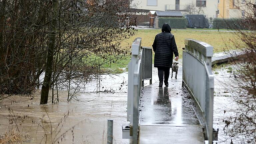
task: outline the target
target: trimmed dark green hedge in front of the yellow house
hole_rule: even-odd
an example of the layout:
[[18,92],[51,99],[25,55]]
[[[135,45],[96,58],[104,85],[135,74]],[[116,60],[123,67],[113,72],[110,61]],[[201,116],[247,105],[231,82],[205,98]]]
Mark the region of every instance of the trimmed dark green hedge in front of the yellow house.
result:
[[234,30],[248,30],[248,27],[244,25],[243,19],[221,19],[216,18],[213,20],[214,29],[234,29]]

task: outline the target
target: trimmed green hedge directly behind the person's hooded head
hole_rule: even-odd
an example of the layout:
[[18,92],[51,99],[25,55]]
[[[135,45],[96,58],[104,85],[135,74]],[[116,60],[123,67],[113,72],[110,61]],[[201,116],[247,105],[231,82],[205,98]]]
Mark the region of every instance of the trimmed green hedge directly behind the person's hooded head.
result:
[[186,18],[159,18],[158,26],[161,28],[164,23],[169,23],[171,28],[186,28]]

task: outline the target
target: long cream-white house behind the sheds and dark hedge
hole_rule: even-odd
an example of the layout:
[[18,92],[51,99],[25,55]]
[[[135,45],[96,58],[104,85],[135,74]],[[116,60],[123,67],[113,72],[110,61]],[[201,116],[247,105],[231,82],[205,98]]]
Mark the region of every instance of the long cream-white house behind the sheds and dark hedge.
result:
[[153,11],[180,11],[185,14],[203,14],[215,18],[218,15],[218,0],[134,0],[136,9]]

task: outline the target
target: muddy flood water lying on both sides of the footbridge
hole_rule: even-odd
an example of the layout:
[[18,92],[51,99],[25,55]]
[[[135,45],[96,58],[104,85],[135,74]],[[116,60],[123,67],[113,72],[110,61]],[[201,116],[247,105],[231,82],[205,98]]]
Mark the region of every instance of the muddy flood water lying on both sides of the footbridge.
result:
[[[181,61],[179,60],[180,64]],[[15,129],[17,125],[18,131],[28,134],[31,139],[25,144],[106,144],[107,120],[112,119],[113,143],[129,144],[129,139],[122,139],[122,124],[127,123],[128,73],[103,75],[101,79],[100,90],[111,93],[95,93],[97,82],[93,81],[84,85],[83,92],[76,95],[76,99],[80,101],[73,99],[67,102],[68,93],[59,91],[59,103],[40,105],[40,89],[33,94],[33,99],[31,96],[5,99],[0,110],[0,134],[11,128]],[[153,68],[152,82],[157,80],[157,69]],[[148,83],[145,82],[146,85]],[[233,98],[227,96],[232,95],[231,85],[228,83],[232,83],[232,80],[225,70],[215,76],[214,128],[219,128],[218,144],[228,143],[222,130],[225,126],[222,120],[232,114],[227,111],[224,115],[223,111],[232,109],[234,103]],[[227,90],[229,93],[224,94]],[[50,99],[49,97],[49,101]]]

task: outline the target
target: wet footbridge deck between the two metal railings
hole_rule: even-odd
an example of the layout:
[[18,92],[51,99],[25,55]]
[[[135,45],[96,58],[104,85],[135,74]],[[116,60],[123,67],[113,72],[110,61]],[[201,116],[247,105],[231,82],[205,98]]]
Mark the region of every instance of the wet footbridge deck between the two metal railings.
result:
[[170,74],[168,88],[159,88],[158,84],[141,92],[139,144],[204,144],[195,106],[182,88],[182,67],[177,80]]

